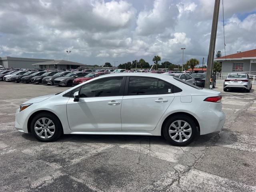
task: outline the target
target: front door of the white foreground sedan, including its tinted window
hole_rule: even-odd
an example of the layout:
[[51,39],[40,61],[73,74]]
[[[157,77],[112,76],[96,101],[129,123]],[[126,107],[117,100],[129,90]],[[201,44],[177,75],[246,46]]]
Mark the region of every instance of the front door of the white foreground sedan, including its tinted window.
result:
[[[123,77],[102,78],[84,84],[79,101],[69,99],[67,116],[73,131],[119,131],[121,129]],[[124,83],[124,82],[123,82]]]

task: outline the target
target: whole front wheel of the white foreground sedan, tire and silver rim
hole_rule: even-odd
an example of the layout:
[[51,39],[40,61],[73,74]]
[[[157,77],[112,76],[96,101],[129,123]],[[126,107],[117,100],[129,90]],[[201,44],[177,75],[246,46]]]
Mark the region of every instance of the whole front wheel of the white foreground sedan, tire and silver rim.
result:
[[50,113],[36,115],[32,119],[30,130],[36,139],[42,142],[52,142],[63,133],[60,120]]

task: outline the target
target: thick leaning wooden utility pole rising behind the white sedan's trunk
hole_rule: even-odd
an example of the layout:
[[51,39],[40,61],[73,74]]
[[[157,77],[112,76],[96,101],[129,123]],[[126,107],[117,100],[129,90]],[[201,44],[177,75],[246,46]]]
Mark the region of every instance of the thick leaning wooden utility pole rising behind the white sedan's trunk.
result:
[[211,38],[210,38],[209,54],[208,54],[207,72],[206,72],[206,79],[205,79],[205,85],[204,85],[205,88],[210,88],[210,78],[212,77],[212,66],[213,66],[214,50],[215,50],[215,43],[216,43],[219,9],[220,9],[220,0],[215,0],[214,12],[213,12],[213,18],[212,18],[212,31],[211,31]]

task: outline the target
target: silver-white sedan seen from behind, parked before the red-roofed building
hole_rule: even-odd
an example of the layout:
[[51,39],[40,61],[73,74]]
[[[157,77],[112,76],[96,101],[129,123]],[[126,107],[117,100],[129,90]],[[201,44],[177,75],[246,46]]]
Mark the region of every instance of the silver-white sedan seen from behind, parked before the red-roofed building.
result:
[[223,90],[240,88],[250,92],[252,89],[252,80],[246,73],[230,73],[224,81]]

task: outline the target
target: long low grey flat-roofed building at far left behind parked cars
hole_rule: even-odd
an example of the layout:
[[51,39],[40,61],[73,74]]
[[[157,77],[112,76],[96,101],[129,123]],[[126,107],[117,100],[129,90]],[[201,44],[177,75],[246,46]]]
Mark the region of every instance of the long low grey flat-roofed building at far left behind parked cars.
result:
[[33,69],[32,64],[51,61],[50,59],[34,59],[34,58],[20,58],[20,57],[0,57],[0,65],[4,68],[22,68]]

